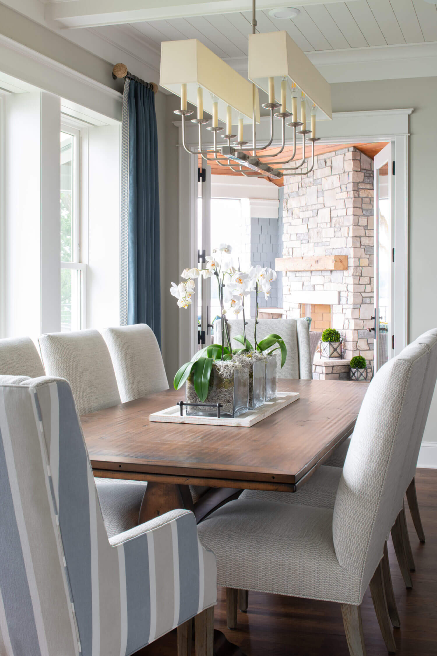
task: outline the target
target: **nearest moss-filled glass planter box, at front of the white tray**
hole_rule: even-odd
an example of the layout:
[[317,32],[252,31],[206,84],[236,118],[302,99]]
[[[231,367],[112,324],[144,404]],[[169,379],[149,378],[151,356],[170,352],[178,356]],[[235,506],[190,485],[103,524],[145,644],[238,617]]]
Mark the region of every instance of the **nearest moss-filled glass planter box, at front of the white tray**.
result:
[[[185,384],[186,403],[201,403],[189,376]],[[233,367],[230,363],[222,371],[213,365],[210,377],[208,396],[204,403],[214,405],[187,405],[187,415],[198,417],[217,417],[217,403],[221,403],[221,417],[238,417],[248,409],[248,369]]]

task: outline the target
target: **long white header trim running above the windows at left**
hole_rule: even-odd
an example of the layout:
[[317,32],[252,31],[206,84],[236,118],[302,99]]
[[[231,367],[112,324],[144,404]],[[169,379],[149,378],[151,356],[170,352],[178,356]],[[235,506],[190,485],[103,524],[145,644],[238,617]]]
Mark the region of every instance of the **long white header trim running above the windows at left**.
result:
[[121,121],[119,91],[0,34],[0,68],[12,77]]

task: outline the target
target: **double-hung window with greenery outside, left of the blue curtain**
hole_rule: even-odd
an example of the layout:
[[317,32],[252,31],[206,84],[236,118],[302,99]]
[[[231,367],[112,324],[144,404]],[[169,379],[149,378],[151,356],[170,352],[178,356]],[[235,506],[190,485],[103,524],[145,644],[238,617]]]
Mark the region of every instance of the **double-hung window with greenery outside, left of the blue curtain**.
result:
[[61,331],[86,328],[86,264],[81,260],[81,132],[60,133]]

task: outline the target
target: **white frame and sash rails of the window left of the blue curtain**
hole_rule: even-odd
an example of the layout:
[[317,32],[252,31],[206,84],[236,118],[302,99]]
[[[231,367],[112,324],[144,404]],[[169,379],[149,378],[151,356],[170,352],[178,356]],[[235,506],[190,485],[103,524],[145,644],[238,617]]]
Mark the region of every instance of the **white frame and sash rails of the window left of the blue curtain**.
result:
[[[83,330],[87,327],[86,321],[86,308],[87,297],[87,273],[88,265],[83,261],[83,255],[86,252],[84,249],[83,237],[88,234],[88,215],[85,211],[87,204],[83,198],[83,190],[86,185],[86,171],[84,164],[87,163],[86,157],[83,157],[83,142],[87,142],[86,127],[82,125],[81,121],[72,119],[69,116],[62,115],[61,117],[61,132],[71,134],[75,137],[73,140],[73,262],[61,262],[61,269],[73,269],[81,272],[81,291],[80,291],[80,325],[79,329]],[[85,134],[84,134],[85,133]]]

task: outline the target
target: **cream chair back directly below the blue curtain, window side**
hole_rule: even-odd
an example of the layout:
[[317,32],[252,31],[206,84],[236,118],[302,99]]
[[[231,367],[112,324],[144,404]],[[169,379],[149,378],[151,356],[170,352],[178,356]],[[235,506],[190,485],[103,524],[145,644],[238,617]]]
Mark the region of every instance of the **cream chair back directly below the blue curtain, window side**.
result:
[[113,363],[121,402],[168,390],[159,344],[145,323],[102,331]]

